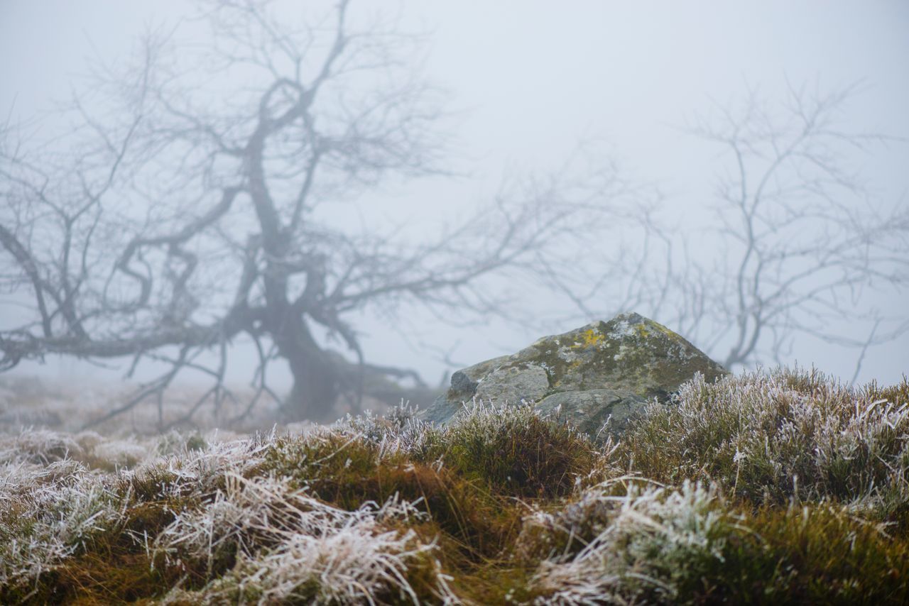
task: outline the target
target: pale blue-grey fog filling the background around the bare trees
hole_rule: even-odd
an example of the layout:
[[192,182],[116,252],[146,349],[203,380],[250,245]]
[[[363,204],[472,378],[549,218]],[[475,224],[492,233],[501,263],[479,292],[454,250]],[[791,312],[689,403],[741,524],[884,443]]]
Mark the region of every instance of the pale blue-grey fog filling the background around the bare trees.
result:
[[[634,190],[635,201],[659,200],[672,232],[690,234],[695,256],[709,259],[713,241],[703,232],[713,220],[708,207],[715,202],[718,181],[734,172],[734,165],[722,146],[693,136],[691,127],[713,123],[724,110],[740,107],[749,94],[780,107],[791,101],[794,90],[810,96],[851,86],[854,94],[836,107],[837,124],[851,133],[885,137],[862,150],[844,145],[840,160],[850,178],[863,185],[863,193],[842,204],[867,200],[884,214],[905,213],[909,205],[909,5],[900,0],[569,2],[558,9],[554,3],[526,1],[354,2],[350,19],[371,23],[379,8],[397,31],[421,35],[422,45],[407,58],[421,77],[442,91],[445,114],[436,124],[447,142],[440,168],[448,174],[393,173],[376,179],[356,188],[355,195],[339,196],[337,208],[325,210],[325,224],[355,225],[352,232],[363,233],[396,230],[403,242],[418,243],[438,237],[441,225],[456,224],[497,193],[513,192],[509,187],[514,184],[520,190],[534,177],[584,173],[599,162],[614,165],[622,183]],[[288,24],[300,13],[288,6],[278,9]],[[326,10],[323,6],[315,14],[326,15]],[[27,133],[35,140],[65,134],[70,123],[61,118],[56,104],[73,94],[85,95],[92,86],[86,78],[91,65],[130,55],[137,35],[148,26],[204,46],[210,33],[203,21],[191,18],[194,11],[192,3],[174,1],[6,0],[0,6],[0,53],[5,57],[0,65],[0,111],[9,116],[8,124],[28,124]],[[563,168],[572,159],[570,168]],[[145,209],[135,212],[138,216]],[[635,237],[634,221],[627,229],[613,221],[605,222],[609,231],[602,236],[579,238],[579,243],[597,243],[602,251],[587,255],[582,247],[582,253],[572,253],[574,262],[560,263],[596,274],[596,263],[612,254],[610,246]],[[822,226],[818,229],[823,233]],[[896,235],[896,242],[909,241],[909,225],[906,230]],[[466,251],[486,242],[471,233],[461,237],[459,245]],[[568,247],[566,243],[564,249]],[[898,256],[905,250],[895,249],[897,258],[881,267],[882,272],[906,277],[905,267],[900,268],[904,259]],[[558,247],[554,254],[560,254]],[[0,253],[4,272],[9,261],[8,254]],[[678,257],[676,263],[684,260]],[[583,282],[574,273],[571,280],[575,285]],[[847,306],[885,318],[878,336],[898,331],[909,321],[905,286],[878,278],[856,292]],[[564,293],[531,286],[526,276],[485,277],[481,288],[490,293],[499,289],[505,313],[464,313],[447,323],[453,312],[432,313],[424,305],[405,302],[395,303],[395,310],[356,309],[345,322],[355,328],[366,361],[413,368],[435,384],[456,365],[511,353],[539,336],[586,323],[590,316],[608,319],[621,311],[611,300],[621,299],[621,293],[608,288],[585,301],[586,313]],[[4,293],[0,330],[26,321],[22,303],[30,296],[25,285]],[[664,309],[669,311],[654,319],[682,331],[669,322],[674,304],[682,303],[667,301]],[[873,325],[856,320],[834,328],[863,342]],[[324,334],[319,338],[325,343]],[[729,348],[724,339],[718,337],[710,350],[718,360]],[[255,353],[248,340],[236,342],[230,379],[247,382]],[[353,360],[342,340],[328,344]],[[858,380],[898,381],[909,372],[906,352],[905,332],[870,345]],[[777,353],[781,362],[814,364],[849,381],[862,349],[800,333]],[[753,356],[744,367],[755,361],[776,362],[764,354]],[[115,364],[114,373],[52,354],[43,364],[25,360],[13,372],[113,378],[122,376],[129,360],[108,362]],[[275,388],[287,389],[290,373],[285,363],[279,360],[274,366]],[[138,376],[147,378],[156,370],[155,364],[145,364]]]

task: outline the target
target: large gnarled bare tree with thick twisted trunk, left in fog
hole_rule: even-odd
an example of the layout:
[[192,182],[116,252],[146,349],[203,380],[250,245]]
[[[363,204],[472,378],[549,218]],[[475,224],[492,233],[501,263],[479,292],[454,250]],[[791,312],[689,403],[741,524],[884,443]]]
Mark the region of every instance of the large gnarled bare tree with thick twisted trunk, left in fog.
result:
[[7,125],[0,285],[24,311],[0,327],[0,368],[49,354],[153,360],[168,370],[110,414],[160,405],[187,371],[213,379],[195,411],[233,397],[225,369],[242,337],[258,354],[250,407],[277,397],[267,370],[283,360],[287,414],[325,420],[364,373],[405,374],[365,362],[353,313],[502,311],[484,276],[533,274],[534,254],[563,246],[617,182],[539,179],[419,242],[359,225],[354,201],[389,176],[445,173],[445,94],[408,59],[418,40],[381,16],[353,20],[348,4],[288,22],[268,2],[218,0],[204,14],[210,45],[159,32],[126,69],[99,68],[71,134],[35,145]]

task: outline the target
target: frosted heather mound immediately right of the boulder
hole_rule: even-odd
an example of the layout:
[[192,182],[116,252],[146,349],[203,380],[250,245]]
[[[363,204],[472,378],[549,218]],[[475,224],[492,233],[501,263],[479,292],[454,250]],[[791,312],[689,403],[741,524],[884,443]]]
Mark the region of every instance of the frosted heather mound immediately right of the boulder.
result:
[[626,464],[755,503],[833,498],[893,513],[909,498],[909,405],[883,393],[799,369],[698,376],[629,432]]

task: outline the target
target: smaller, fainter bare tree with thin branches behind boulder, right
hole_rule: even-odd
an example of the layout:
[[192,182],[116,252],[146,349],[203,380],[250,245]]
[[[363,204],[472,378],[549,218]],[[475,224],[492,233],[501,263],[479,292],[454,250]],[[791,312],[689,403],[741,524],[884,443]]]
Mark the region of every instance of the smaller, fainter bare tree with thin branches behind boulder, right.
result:
[[727,368],[780,363],[800,335],[854,347],[861,364],[869,346],[909,330],[905,313],[866,303],[909,285],[909,206],[875,203],[847,168],[856,153],[893,141],[844,127],[855,92],[790,87],[778,106],[754,92],[740,108],[718,105],[692,129],[727,163],[713,204],[641,207],[640,229],[607,254],[608,271],[584,277],[593,286],[559,272],[554,285],[584,315],[602,313],[603,301],[648,313]]

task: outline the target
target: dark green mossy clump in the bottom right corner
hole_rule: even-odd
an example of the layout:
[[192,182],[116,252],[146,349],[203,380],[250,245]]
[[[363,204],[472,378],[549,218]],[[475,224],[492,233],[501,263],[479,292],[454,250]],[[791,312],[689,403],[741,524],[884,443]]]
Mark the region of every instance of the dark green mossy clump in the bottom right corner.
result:
[[909,602],[909,543],[824,505],[741,512],[715,560],[680,583],[685,603]]

